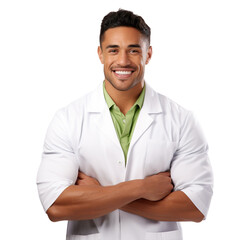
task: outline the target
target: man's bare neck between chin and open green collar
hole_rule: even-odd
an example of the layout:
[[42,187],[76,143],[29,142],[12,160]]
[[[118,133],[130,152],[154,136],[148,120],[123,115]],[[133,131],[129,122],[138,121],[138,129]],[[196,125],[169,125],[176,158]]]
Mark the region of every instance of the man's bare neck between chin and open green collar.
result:
[[137,101],[144,87],[144,80],[138,83],[133,88],[126,91],[119,91],[112,86],[107,80],[105,80],[105,88],[112,98],[112,100],[119,107],[120,111],[125,115],[134,103]]

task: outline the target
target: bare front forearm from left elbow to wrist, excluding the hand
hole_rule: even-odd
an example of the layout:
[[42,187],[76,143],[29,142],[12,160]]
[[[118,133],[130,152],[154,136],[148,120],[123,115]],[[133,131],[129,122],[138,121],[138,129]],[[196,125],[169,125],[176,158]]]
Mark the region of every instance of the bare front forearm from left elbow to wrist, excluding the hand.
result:
[[70,186],[47,210],[52,221],[86,220],[105,215],[139,197],[139,182],[115,186]]

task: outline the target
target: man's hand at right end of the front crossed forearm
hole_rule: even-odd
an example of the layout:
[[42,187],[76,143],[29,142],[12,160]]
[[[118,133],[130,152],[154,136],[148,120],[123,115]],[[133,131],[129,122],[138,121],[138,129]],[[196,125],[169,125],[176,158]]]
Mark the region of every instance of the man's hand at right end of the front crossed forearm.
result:
[[161,172],[143,180],[143,197],[150,201],[159,201],[169,195],[173,184],[169,172]]

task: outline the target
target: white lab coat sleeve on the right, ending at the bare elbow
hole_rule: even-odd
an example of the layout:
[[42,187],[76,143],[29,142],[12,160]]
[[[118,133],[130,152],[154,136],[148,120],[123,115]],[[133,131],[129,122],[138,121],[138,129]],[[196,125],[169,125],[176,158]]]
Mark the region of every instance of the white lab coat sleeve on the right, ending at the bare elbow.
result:
[[182,120],[179,135],[171,166],[174,190],[183,191],[206,218],[213,194],[213,174],[207,142],[191,112]]

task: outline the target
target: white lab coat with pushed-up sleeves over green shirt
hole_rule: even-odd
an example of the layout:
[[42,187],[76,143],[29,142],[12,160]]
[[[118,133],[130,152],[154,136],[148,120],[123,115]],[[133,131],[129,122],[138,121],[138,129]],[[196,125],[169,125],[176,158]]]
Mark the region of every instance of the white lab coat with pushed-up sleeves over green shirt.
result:
[[[170,169],[174,190],[183,191],[206,217],[213,184],[207,150],[192,113],[146,85],[125,166],[101,84],[52,120],[37,177],[40,199],[46,211],[75,183],[78,170],[108,186]],[[69,221],[67,239],[180,240],[182,233],[177,222],[115,210],[93,220]]]

